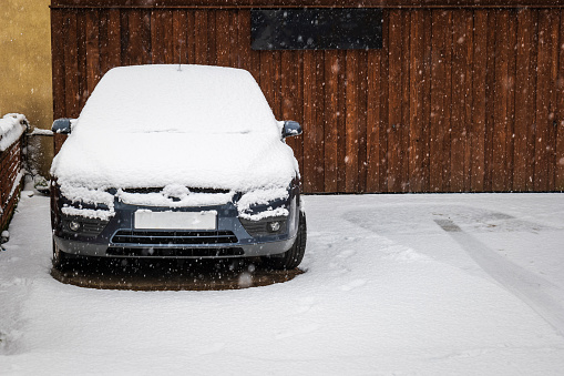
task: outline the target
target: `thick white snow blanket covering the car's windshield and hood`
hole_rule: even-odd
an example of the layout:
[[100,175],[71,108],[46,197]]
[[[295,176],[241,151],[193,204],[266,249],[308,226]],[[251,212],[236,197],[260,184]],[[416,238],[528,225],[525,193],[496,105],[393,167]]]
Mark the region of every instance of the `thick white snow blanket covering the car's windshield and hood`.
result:
[[287,187],[298,165],[245,70],[121,67],[96,85],[53,160],[59,184],[246,192]]

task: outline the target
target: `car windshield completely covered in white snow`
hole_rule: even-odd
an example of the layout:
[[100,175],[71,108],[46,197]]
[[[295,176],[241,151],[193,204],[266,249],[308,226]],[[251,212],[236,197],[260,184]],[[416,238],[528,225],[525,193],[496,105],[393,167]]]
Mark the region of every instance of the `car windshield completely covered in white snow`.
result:
[[75,129],[96,133],[278,132],[250,73],[203,65],[113,69],[89,98]]

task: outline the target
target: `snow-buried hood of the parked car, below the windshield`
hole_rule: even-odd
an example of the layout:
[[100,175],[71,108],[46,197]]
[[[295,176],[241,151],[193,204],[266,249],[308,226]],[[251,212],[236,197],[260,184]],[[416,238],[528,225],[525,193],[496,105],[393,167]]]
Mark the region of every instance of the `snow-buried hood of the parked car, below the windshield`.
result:
[[286,187],[297,174],[291,149],[260,132],[76,132],[51,167],[60,185],[89,189],[181,184],[246,192]]

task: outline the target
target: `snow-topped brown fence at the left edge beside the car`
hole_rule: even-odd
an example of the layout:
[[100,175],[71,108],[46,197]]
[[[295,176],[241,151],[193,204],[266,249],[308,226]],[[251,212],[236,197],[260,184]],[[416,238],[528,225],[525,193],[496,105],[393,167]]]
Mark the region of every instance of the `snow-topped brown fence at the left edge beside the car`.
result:
[[28,126],[22,114],[0,119],[0,232],[8,227],[21,191],[23,133]]

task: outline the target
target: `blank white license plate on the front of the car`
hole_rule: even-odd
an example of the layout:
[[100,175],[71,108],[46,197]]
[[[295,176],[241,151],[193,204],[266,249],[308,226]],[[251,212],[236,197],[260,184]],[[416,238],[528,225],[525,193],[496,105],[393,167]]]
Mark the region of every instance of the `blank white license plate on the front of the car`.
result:
[[135,212],[135,228],[216,230],[215,212]]

